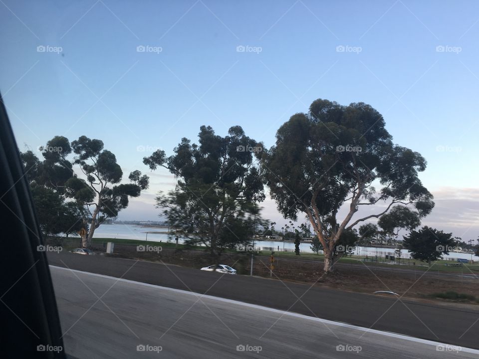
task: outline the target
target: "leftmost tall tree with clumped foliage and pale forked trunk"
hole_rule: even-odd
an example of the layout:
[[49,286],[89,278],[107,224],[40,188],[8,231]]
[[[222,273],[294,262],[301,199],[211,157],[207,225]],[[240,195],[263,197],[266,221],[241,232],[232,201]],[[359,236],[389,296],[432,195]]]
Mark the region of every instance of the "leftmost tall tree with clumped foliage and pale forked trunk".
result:
[[[130,173],[131,183],[121,184],[123,171],[115,155],[104,150],[100,140],[81,136],[70,144],[66,137],[55,136],[41,150],[43,161],[31,151],[21,155],[34,203],[42,208],[40,225],[44,223],[43,228],[51,228],[55,222],[54,228],[58,230],[61,223],[59,232],[65,234],[81,230],[83,247],[90,246],[101,223],[128,206],[129,197],[139,196],[148,187],[149,179],[140,171]],[[70,161],[68,156],[72,152],[76,156]],[[74,165],[79,165],[84,179],[74,172]],[[47,199],[51,207],[44,205]],[[51,218],[60,213],[61,218]]]

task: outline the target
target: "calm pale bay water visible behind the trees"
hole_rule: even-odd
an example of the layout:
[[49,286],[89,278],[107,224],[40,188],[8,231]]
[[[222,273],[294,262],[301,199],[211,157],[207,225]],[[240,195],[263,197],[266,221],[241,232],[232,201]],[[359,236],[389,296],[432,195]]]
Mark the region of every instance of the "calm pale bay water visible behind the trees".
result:
[[[146,232],[166,232],[167,228],[159,227],[142,227],[129,224],[102,224],[96,230],[94,237],[96,238],[125,238],[125,239],[136,239],[136,240],[151,240],[155,242],[167,242],[170,239],[172,242],[175,241],[174,236],[169,236],[166,233],[147,233]],[[179,239],[179,243],[183,243],[183,238]],[[302,253],[313,253],[310,248],[311,243],[301,243],[299,249]],[[283,241],[258,241],[254,240],[254,247],[257,247],[259,250],[267,251],[294,251],[294,243],[292,242],[283,242]],[[376,248],[376,247],[356,247],[354,255],[360,256],[369,256],[369,257],[385,257],[386,255],[396,256],[394,248]],[[410,258],[410,253],[407,249],[401,250],[401,258],[408,259]],[[471,260],[471,254],[469,253],[455,253],[450,252],[449,255],[443,255],[443,259],[452,259],[457,258],[469,259]],[[477,262],[479,257],[473,255],[472,259]]]

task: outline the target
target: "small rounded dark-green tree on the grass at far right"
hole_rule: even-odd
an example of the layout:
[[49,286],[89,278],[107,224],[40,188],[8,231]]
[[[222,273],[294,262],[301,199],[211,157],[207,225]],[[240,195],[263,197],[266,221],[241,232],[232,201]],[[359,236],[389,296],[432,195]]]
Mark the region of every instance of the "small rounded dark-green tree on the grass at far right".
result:
[[443,254],[449,254],[456,243],[452,233],[424,226],[404,236],[403,246],[411,252],[411,257],[431,266],[431,261],[440,259]]

